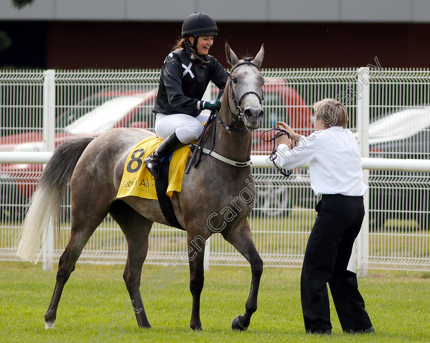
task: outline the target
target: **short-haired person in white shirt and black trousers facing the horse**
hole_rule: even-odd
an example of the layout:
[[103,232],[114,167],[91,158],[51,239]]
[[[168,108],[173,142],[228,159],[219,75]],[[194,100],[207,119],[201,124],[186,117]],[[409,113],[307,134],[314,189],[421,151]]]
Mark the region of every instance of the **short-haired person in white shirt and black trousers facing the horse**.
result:
[[[358,145],[345,129],[348,113],[339,101],[324,99],[314,104],[318,131],[309,136],[276,123],[289,134],[280,136],[276,155],[287,170],[309,163],[311,187],[320,198],[317,217],[306,246],[300,280],[300,296],[306,332],[331,334],[330,286],[342,330],[372,333],[374,328],[358,291],[357,277],[347,270],[354,240],[364,217],[363,195],[368,187]],[[298,141],[291,149],[292,141]]]

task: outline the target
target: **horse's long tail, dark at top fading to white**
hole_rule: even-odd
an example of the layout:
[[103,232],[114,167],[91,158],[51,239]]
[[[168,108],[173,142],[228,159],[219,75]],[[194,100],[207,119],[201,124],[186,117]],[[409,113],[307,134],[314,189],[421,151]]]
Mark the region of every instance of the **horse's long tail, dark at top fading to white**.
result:
[[59,234],[61,198],[65,194],[73,170],[85,148],[94,138],[82,137],[58,146],[40,177],[30,200],[30,209],[24,220],[16,245],[16,255],[34,263],[40,258],[37,249],[45,244],[52,227]]

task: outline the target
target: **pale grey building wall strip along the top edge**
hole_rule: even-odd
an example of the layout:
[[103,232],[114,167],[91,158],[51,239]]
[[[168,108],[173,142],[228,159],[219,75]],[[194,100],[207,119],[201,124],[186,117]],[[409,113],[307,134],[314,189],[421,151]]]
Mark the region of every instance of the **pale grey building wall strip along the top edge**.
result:
[[227,22],[430,22],[430,0],[0,0],[0,20],[182,21],[193,11]]

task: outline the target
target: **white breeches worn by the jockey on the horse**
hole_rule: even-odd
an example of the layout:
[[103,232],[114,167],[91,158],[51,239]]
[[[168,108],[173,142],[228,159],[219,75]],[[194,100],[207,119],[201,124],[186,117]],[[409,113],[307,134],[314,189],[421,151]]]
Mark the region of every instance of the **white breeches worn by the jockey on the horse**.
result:
[[155,133],[161,139],[165,140],[172,132],[176,131],[178,139],[184,143],[190,143],[200,138],[203,133],[204,126],[209,115],[200,113],[197,117],[188,115],[163,115],[157,113],[155,120]]

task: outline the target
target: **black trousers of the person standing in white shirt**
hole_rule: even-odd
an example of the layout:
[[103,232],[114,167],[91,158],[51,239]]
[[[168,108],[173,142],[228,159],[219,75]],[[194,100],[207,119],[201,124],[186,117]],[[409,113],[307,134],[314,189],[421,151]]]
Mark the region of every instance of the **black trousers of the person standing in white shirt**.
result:
[[322,195],[309,236],[300,280],[307,332],[331,329],[327,283],[343,331],[372,326],[358,291],[357,276],[347,270],[354,240],[364,217],[362,196]]

